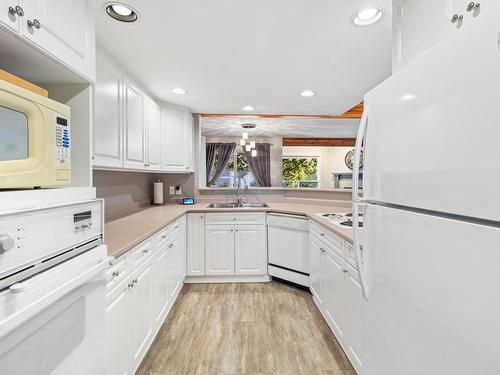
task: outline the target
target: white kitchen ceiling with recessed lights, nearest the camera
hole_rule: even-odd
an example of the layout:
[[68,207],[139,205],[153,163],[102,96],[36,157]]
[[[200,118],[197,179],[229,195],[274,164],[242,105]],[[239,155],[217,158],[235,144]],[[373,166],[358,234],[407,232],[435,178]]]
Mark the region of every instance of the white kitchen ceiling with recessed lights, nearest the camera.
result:
[[[151,95],[194,112],[341,114],[391,73],[390,0],[122,1],[139,21],[112,20],[98,0],[99,46]],[[365,7],[384,18],[353,26]]]

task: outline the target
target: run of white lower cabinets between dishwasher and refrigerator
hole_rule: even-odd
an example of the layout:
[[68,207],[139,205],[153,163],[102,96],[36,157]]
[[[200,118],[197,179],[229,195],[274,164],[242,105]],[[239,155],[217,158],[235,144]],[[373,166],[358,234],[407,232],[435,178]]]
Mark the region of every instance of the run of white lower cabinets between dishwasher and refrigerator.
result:
[[314,301],[354,369],[361,374],[363,296],[358,272],[349,264],[350,244],[330,231],[318,231],[317,225],[312,228],[309,262]]

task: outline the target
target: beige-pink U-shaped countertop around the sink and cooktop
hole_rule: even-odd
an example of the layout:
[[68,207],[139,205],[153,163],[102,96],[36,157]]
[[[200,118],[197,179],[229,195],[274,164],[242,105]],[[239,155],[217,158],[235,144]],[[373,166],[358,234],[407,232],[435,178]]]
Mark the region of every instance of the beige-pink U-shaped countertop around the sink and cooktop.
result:
[[331,224],[328,220],[316,215],[323,212],[346,212],[345,205],[315,205],[295,202],[269,202],[268,208],[207,208],[208,202],[196,203],[191,206],[179,204],[166,204],[163,206],[152,206],[140,212],[131,214],[106,223],[104,231],[104,243],[108,246],[108,255],[119,257],[128,250],[138,245],[163,227],[174,222],[188,212],[280,212],[300,214],[311,220],[322,224],[329,230],[335,232],[343,239],[352,242],[352,230],[342,229]]

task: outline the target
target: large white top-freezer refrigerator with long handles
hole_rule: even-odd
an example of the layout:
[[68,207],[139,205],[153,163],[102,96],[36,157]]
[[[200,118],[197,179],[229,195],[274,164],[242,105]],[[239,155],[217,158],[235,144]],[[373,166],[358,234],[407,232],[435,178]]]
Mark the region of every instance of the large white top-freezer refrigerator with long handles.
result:
[[362,375],[500,374],[499,3],[365,96]]

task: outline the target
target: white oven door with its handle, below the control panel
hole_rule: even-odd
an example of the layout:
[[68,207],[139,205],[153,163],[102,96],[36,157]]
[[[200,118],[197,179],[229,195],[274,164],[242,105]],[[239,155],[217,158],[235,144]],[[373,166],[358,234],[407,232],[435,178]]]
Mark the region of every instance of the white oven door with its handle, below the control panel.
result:
[[0,292],[0,374],[104,373],[106,258],[98,246]]

